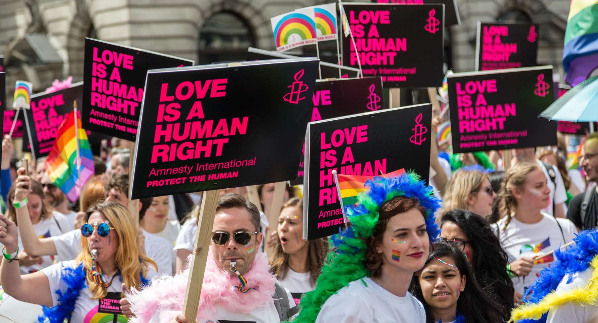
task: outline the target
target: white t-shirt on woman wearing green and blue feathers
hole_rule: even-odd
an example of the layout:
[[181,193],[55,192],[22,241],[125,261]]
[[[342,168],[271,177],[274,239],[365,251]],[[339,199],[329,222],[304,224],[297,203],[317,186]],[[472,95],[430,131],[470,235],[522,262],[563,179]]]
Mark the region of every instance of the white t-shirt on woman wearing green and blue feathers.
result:
[[350,282],[324,303],[316,323],[330,322],[425,323],[426,312],[410,293],[398,297],[364,277]]

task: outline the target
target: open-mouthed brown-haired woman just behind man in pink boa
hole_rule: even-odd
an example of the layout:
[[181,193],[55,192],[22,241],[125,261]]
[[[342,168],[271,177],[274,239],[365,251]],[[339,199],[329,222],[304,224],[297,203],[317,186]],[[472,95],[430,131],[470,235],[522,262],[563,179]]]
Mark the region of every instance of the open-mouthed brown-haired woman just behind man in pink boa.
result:
[[299,304],[301,296],[316,287],[328,246],[324,239],[303,239],[303,199],[292,198],[278,217],[279,243],[270,257],[271,271]]

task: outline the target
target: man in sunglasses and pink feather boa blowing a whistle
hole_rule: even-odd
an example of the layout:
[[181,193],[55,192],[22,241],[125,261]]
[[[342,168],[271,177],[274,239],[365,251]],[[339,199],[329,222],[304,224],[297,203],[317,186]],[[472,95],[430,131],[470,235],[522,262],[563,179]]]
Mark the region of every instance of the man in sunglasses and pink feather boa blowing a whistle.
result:
[[[295,304],[258,249],[263,235],[257,207],[237,193],[221,196],[211,238],[197,322],[286,321]],[[127,296],[121,300],[123,313],[136,315],[138,322],[189,322],[180,313],[188,275],[189,269]]]

